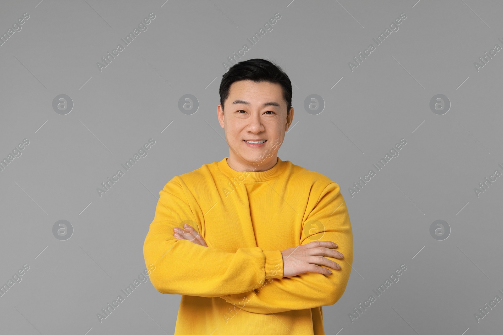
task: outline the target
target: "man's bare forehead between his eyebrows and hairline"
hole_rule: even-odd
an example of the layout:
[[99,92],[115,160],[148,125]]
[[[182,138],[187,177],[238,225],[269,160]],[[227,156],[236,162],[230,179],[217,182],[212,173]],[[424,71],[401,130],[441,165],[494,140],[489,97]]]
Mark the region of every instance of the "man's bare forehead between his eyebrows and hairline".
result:
[[232,83],[227,102],[234,103],[236,100],[249,103],[262,103],[265,100],[276,101],[279,104],[285,103],[280,84],[253,80],[239,80]]

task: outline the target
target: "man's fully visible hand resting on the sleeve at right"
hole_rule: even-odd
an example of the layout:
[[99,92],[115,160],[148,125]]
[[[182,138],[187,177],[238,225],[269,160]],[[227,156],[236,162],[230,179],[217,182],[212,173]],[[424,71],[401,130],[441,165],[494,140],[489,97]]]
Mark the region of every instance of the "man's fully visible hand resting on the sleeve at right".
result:
[[[333,250],[337,244],[331,241],[313,241],[305,245],[285,249],[283,255],[283,278],[293,277],[305,272],[315,272],[329,275],[332,272],[319,265],[325,265],[339,270],[341,266],[323,256],[343,258],[343,254]],[[316,265],[319,264],[319,265]]]

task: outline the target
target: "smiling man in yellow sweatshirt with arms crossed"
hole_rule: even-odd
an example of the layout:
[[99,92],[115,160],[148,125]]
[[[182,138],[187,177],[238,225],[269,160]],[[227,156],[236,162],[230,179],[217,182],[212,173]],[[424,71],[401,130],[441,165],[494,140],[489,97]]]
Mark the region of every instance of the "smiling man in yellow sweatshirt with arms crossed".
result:
[[182,295],[175,335],[324,334],[321,306],[346,289],[353,235],[339,185],[277,155],[291,101],[275,64],[233,65],[217,107],[229,157],[159,192],[143,253],[155,289]]

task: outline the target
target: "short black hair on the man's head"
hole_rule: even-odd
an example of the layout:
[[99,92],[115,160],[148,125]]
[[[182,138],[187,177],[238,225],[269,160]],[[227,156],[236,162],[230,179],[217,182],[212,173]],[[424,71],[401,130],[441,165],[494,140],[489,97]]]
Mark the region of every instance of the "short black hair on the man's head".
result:
[[248,59],[232,65],[222,76],[220,82],[220,104],[229,96],[229,89],[233,82],[238,80],[253,80],[255,82],[267,81],[278,83],[283,88],[283,99],[287,104],[287,116],[292,107],[292,82],[288,75],[278,65],[262,58]]

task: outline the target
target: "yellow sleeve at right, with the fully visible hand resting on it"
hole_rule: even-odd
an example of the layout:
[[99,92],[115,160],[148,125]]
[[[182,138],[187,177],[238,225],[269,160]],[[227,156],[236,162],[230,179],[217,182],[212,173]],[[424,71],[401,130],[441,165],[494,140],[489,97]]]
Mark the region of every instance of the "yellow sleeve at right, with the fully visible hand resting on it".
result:
[[[353,264],[351,222],[337,183],[332,182],[323,189],[303,222],[299,244],[305,245],[316,240],[337,244],[335,250],[344,255],[344,260],[324,257],[338,263],[341,269],[330,269],[330,275],[307,272],[294,277],[268,279],[260,289],[221,298],[246,311],[262,314],[336,303],[346,289]],[[322,267],[328,268],[324,265]]]

